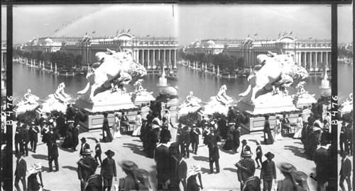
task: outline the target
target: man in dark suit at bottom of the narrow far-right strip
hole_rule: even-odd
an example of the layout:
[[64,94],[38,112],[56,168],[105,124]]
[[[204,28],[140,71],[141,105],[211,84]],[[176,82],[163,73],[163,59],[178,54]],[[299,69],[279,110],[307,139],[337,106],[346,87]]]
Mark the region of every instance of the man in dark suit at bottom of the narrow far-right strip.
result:
[[348,185],[348,190],[351,190],[351,161],[349,158],[346,157],[346,152],[342,152],[340,156],[342,156],[342,166],[340,167],[340,180],[339,180],[339,185],[342,188],[342,190],[345,190],[344,187],[344,180],[346,180],[346,184]]

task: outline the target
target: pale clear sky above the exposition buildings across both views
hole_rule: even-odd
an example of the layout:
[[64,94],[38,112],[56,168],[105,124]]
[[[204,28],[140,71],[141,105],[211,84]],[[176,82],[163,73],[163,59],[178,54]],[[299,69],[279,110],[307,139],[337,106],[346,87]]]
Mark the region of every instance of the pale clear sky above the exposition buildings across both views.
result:
[[[33,37],[85,33],[94,37],[114,36],[123,29],[130,29],[136,36],[175,36],[180,45],[208,38],[244,39],[256,34],[256,38],[276,39],[285,32],[292,32],[298,39],[331,39],[330,13],[331,7],[325,4],[16,5],[13,41],[23,43]],[[351,4],[339,6],[338,20],[338,42],[352,42]]]

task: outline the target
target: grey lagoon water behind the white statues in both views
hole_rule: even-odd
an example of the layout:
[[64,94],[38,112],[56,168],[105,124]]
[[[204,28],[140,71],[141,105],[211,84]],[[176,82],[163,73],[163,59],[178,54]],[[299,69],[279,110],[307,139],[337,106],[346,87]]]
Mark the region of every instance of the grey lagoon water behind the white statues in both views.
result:
[[[352,67],[349,64],[339,64],[338,66],[338,91],[340,101],[347,98],[352,92]],[[246,78],[239,79],[220,79],[210,74],[204,74],[202,71],[195,71],[186,66],[178,65],[178,80],[168,79],[170,86],[178,86],[180,101],[184,100],[190,91],[194,96],[208,102],[211,96],[216,96],[219,88],[226,85],[228,88],[226,94],[235,100],[239,100],[239,93],[246,90],[248,81]],[[158,96],[158,74],[148,74],[144,81],[143,87],[147,91],[153,91],[153,96]],[[320,98],[320,77],[311,76],[307,79],[305,90],[311,94],[315,94],[315,98]],[[32,93],[42,100],[46,100],[48,95],[54,93],[59,83],[65,83],[65,92],[69,93],[73,98],[77,98],[77,91],[82,90],[87,80],[85,76],[55,76],[45,71],[29,68],[18,62],[13,63],[13,103],[17,103],[26,93],[27,89],[31,89]],[[129,88],[128,88],[129,89]],[[341,102],[339,102],[341,103]]]

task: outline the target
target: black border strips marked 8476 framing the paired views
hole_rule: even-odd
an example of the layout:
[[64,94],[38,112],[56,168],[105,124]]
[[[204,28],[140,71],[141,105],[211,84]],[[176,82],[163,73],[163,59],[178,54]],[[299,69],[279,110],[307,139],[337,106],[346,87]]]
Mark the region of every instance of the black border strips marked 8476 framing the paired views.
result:
[[[6,70],[6,79],[8,79],[6,81],[6,96],[12,96],[12,34],[13,34],[13,20],[12,20],[12,7],[13,5],[16,4],[138,4],[138,3],[148,3],[148,4],[152,4],[152,3],[165,3],[165,4],[332,4],[332,98],[334,98],[334,96],[337,96],[337,4],[351,4],[353,3],[351,0],[346,0],[346,1],[342,1],[342,0],[323,0],[323,1],[310,1],[310,0],[288,0],[288,1],[282,1],[282,0],[273,0],[273,1],[268,1],[268,0],[224,0],[224,1],[214,1],[214,0],[204,0],[204,1],[188,1],[188,0],[175,0],[175,1],[157,1],[157,0],[145,0],[145,1],[129,1],[129,0],[119,0],[119,1],[114,1],[114,0],[105,0],[105,1],[90,1],[90,0],[86,0],[86,1],[64,1],[64,0],[56,0],[56,1],[43,1],[43,0],[30,0],[30,1],[25,1],[25,0],[5,0],[5,1],[1,1],[1,4],[5,4],[7,6],[7,53],[6,53],[6,66],[7,66],[7,70]],[[355,25],[355,21],[354,21],[354,8],[355,5],[353,4],[353,41],[354,41],[354,25]],[[355,50],[355,47],[353,45],[353,52]],[[353,54],[354,57],[354,54]],[[355,58],[355,57],[354,57]],[[353,70],[355,71],[354,67]],[[353,71],[353,74],[354,74]],[[353,83],[353,91],[355,88],[355,84]],[[9,101],[9,100],[7,100]],[[9,102],[8,102],[9,103]],[[332,103],[338,104],[337,100],[332,100]],[[12,101],[11,101],[12,104]],[[333,105],[332,105],[333,106]],[[354,107],[355,108],[355,107]],[[334,107],[332,107],[332,111],[337,112],[337,105],[334,105]],[[6,111],[10,111],[12,112],[12,105],[10,105],[9,108],[7,108]],[[335,117],[335,118],[334,118]],[[337,119],[337,115],[332,116],[332,120],[339,120]],[[11,125],[6,126],[7,132],[11,132],[11,136],[7,136],[7,145],[6,146],[10,146],[9,149],[10,151],[8,152],[9,155],[9,160],[6,160],[6,166],[9,167],[6,170],[6,177],[11,178],[11,185],[12,185],[12,126]],[[353,134],[355,135],[355,132],[353,132]],[[331,160],[332,163],[336,163],[337,164],[337,138],[338,138],[338,134],[337,134],[337,125],[332,125],[332,138],[333,138],[333,144],[334,144],[334,148],[332,148],[332,154],[331,154]],[[354,144],[354,141],[353,141]],[[355,145],[355,144],[354,144]],[[353,164],[354,164],[354,158],[353,158]],[[331,166],[331,173],[329,174],[331,176],[331,180],[329,180],[329,185],[332,185],[334,187],[332,187],[332,190],[337,190],[337,177],[338,177],[338,169],[337,169],[337,165],[332,165]],[[355,182],[355,176],[353,175],[353,183]],[[3,177],[1,177],[3,178]],[[2,180],[1,180],[2,181]],[[334,184],[335,183],[335,184]],[[354,186],[354,185],[353,185]]]

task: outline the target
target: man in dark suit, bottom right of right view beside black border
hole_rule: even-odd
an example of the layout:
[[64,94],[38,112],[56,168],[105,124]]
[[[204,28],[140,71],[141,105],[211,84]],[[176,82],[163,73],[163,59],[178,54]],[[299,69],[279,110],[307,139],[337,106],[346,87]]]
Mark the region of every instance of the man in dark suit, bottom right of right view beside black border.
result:
[[317,174],[317,190],[324,190],[329,180],[329,153],[327,151],[327,141],[321,140],[320,148],[315,150],[312,157],[315,161],[315,172]]

